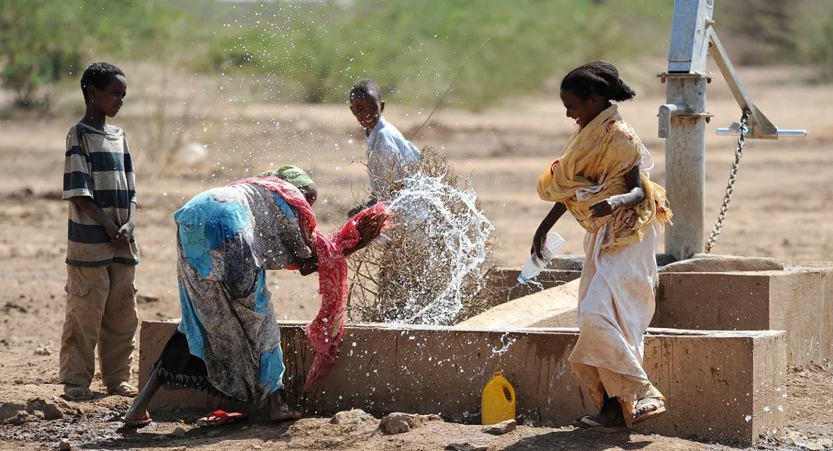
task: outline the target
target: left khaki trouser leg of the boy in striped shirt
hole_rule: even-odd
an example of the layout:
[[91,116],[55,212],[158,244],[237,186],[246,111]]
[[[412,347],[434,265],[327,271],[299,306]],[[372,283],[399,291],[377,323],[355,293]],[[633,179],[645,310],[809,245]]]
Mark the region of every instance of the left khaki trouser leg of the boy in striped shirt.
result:
[[89,387],[95,373],[95,348],[110,280],[106,266],[67,265],[67,315],[61,338],[58,380]]

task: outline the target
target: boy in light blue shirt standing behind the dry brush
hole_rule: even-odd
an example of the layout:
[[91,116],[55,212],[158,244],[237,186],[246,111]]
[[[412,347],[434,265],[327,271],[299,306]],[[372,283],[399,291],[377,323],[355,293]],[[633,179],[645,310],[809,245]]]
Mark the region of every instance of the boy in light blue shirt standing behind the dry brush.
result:
[[385,102],[377,82],[365,78],[350,88],[350,111],[367,136],[367,168],[372,193],[369,201],[350,211],[350,216],[354,216],[377,201],[387,201],[391,185],[412,176],[417,170],[420,150],[382,117]]

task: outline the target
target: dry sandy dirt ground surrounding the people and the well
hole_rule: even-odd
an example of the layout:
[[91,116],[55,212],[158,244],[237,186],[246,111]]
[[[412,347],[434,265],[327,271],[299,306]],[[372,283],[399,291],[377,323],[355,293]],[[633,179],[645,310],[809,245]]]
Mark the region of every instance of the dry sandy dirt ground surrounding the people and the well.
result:
[[[646,62],[624,75],[640,95],[621,111],[656,157],[651,176],[664,179],[663,142],[656,137],[656,111],[664,87],[654,74],[661,62]],[[142,264],[137,271],[142,320],[175,318],[176,297],[172,212],[212,186],[270,166],[297,164],[312,170],[320,198],[316,205],[323,230],[340,226],[345,212],[366,186],[363,136],[344,105],[283,105],[226,102],[217,81],[179,74],[159,87],[147,67],[127,67],[130,81],[121,125],[137,163],[139,211],[137,240]],[[813,85],[796,69],[745,69],[741,75],[758,106],[777,125],[807,128],[803,140],[751,141],[741,167],[734,202],[716,252],[768,255],[783,260],[833,260],[833,86]],[[168,74],[169,75],[169,74]],[[228,82],[226,82],[228,85]],[[232,83],[233,85],[233,83]],[[228,87],[228,86],[226,86]],[[233,86],[232,86],[233,87]],[[229,90],[226,89],[225,92]],[[726,183],[734,141],[715,136],[717,126],[737,121],[739,112],[718,78],[709,91],[706,216],[716,216]],[[77,103],[71,95],[62,105]],[[2,100],[2,96],[0,96]],[[34,117],[8,112],[0,119],[0,425],[2,449],[54,449],[62,438],[92,449],[442,449],[455,441],[487,444],[490,449],[722,449],[683,439],[621,432],[574,431],[522,426],[501,437],[481,434],[476,426],[431,422],[411,433],[383,436],[375,425],[355,430],[304,419],[273,426],[261,422],[203,431],[192,430],[199,412],[157,416],[141,431],[117,429],[112,421],[128,399],[102,397],[90,403],[66,403],[55,397],[57,350],[63,320],[67,206],[60,201],[64,136],[80,116]],[[387,118],[406,134],[426,111],[390,104]],[[158,117],[170,117],[159,121]],[[496,225],[496,259],[521,265],[532,231],[548,206],[536,196],[538,172],[561,151],[571,131],[557,94],[515,99],[485,112],[442,109],[416,139],[440,149],[470,177],[487,215]],[[208,145],[207,161],[187,167],[170,160],[170,143]],[[672,206],[673,207],[673,206]],[[581,252],[582,230],[565,218],[556,226],[566,253]],[[661,251],[661,250],[660,250]],[[280,318],[309,319],[317,309],[314,276],[270,274]],[[138,352],[138,350],[137,350]],[[135,366],[135,364],[134,364]],[[135,368],[134,368],[135,371]],[[96,380],[94,388],[102,389]],[[771,449],[792,442],[816,447],[833,437],[833,369],[795,369],[789,376],[786,430],[765,444]],[[361,408],[362,406],[356,406]],[[18,414],[18,412],[28,412]],[[60,414],[59,419],[43,419]],[[17,415],[17,416],[15,416]],[[12,418],[13,417],[13,418]],[[16,418],[16,419],[15,419]],[[177,427],[184,435],[169,435]],[[792,435],[792,439],[780,440]],[[804,437],[802,434],[806,435]],[[828,442],[828,446],[833,443]]]

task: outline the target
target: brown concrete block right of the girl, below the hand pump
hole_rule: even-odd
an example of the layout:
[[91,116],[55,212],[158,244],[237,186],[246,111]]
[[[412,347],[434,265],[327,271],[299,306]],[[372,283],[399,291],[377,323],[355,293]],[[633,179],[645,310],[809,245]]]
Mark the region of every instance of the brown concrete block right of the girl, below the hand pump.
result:
[[826,362],[833,359],[833,267],[661,273],[651,326],[785,330],[788,364]]

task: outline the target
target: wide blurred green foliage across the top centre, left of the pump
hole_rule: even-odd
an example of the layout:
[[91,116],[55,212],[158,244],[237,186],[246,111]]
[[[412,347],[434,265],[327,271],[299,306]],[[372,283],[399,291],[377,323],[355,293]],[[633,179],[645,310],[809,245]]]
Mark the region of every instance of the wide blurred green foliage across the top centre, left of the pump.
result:
[[669,12],[669,0],[276,2],[255,8],[257,21],[213,45],[210,59],[222,72],[297,83],[307,102],[344,102],[352,82],[372,77],[392,96],[431,104],[459,72],[446,101],[478,108],[588,59],[624,62]]

